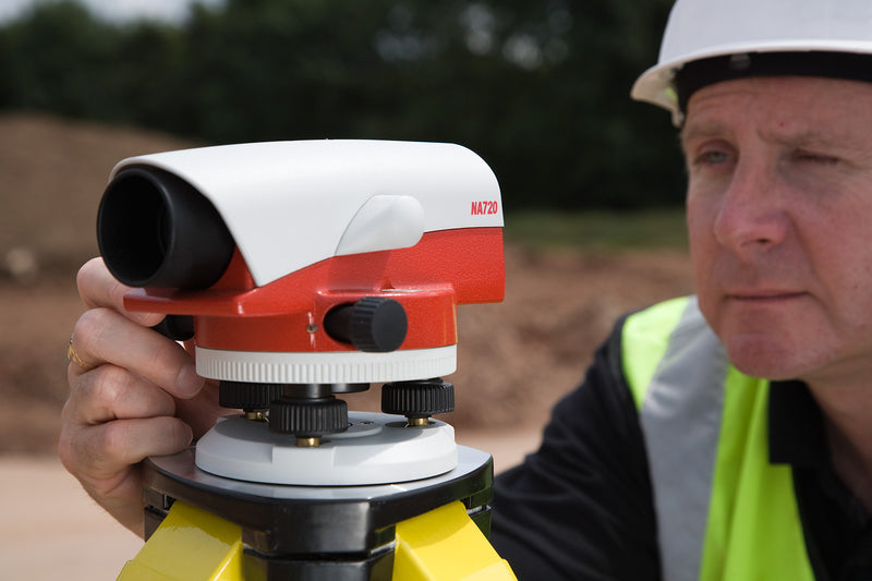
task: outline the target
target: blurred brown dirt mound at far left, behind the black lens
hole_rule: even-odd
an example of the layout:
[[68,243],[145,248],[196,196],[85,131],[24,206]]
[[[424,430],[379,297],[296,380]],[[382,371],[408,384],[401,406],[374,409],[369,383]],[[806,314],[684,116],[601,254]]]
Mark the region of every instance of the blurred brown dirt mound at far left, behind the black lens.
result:
[[116,162],[192,145],[126,128],[0,116],[0,270],[26,281],[94,256],[97,204]]

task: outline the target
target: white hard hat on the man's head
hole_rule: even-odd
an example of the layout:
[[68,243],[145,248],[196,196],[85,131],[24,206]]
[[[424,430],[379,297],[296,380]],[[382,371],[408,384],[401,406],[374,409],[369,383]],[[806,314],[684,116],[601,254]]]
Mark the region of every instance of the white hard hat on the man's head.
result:
[[[658,62],[642,73],[631,95],[668,109],[680,123],[676,73],[689,63],[722,57],[736,70],[755,55],[791,53],[770,64],[767,73],[756,73],[777,74],[784,62],[803,60],[797,52],[814,52],[819,60],[811,71],[796,74],[857,78],[857,71],[843,75],[833,63],[838,55],[872,55],[872,0],[677,0]],[[859,76],[872,80],[872,66],[863,62]]]

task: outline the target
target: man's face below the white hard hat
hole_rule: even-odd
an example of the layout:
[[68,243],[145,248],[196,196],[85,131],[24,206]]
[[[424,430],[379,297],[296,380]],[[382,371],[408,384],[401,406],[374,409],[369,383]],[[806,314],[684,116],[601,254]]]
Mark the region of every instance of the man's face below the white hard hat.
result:
[[700,306],[742,372],[872,377],[872,84],[717,83],[688,104]]

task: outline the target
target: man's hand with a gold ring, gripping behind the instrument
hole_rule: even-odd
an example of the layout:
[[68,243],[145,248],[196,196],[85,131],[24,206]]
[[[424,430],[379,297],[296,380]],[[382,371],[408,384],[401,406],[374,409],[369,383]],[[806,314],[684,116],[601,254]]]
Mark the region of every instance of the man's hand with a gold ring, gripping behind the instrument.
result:
[[164,315],[124,310],[130,289],[102,259],[85,264],[76,282],[88,310],[71,339],[77,361],[68,367],[58,455],[100,506],[142,535],[140,462],[181,451],[211,427],[221,415],[218,389],[197,376],[185,349],[148,328]]

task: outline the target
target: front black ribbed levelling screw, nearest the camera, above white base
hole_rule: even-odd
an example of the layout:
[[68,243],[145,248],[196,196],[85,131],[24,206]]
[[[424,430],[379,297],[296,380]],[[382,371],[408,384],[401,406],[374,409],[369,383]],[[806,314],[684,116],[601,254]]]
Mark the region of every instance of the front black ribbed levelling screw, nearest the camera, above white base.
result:
[[326,398],[283,397],[269,404],[269,431],[317,438],[348,429],[348,404],[332,396]]

